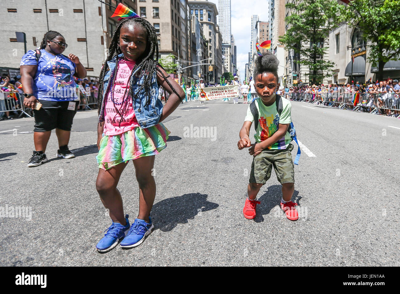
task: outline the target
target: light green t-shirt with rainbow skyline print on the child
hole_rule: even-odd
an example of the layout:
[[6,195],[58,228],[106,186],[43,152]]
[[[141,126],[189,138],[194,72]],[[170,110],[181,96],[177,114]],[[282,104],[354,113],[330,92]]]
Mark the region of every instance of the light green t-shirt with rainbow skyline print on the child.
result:
[[[292,110],[292,104],[290,101],[282,97],[283,110],[279,116],[276,110],[276,103],[271,106],[265,106],[262,103],[261,98],[256,99],[256,107],[258,109],[258,125],[256,128],[256,134],[254,134],[254,139],[257,142],[262,142],[272,136],[276,130],[278,130],[279,124],[290,124],[292,122],[292,117],[290,112]],[[254,122],[254,116],[251,113],[250,105],[247,108],[246,118],[244,121]],[[286,149],[289,143],[292,142],[290,134],[286,132],[285,136],[280,138],[269,149]]]

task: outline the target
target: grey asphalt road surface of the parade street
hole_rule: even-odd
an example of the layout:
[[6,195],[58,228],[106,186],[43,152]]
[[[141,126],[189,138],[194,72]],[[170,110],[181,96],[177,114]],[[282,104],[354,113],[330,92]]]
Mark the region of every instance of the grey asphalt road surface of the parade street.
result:
[[[292,102],[302,145],[293,197],[300,219],[291,222],[280,210],[272,172],[256,218],[246,220],[252,156],[236,144],[247,107],[190,102],[167,118],[170,140],[154,167],[155,229],[137,248],[105,254],[95,250],[110,225],[95,188],[97,112],[76,114],[70,140],[76,158],[57,159],[52,134],[50,161],[36,168],[26,166],[33,118],[0,122],[0,212],[31,208],[31,217],[0,218],[0,265],[399,266],[400,120]],[[195,138],[196,127],[213,132]],[[133,164],[118,188],[133,221]]]

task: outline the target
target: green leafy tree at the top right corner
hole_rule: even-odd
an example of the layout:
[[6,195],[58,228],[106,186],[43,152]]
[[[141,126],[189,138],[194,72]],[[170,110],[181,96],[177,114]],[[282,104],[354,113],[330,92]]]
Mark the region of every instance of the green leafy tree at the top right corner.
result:
[[383,80],[385,63],[400,57],[400,0],[353,0],[344,16],[371,41],[368,62],[378,65],[376,78]]

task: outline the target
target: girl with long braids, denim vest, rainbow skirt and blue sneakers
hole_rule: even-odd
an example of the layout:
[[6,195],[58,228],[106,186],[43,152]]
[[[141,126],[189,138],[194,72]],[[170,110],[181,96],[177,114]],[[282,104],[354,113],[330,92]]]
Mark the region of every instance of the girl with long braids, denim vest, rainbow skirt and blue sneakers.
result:
[[[120,19],[108,49],[98,87],[96,189],[112,224],[96,245],[99,252],[111,250],[121,239],[121,247],[138,246],[154,228],[150,218],[156,195],[154,158],[166,147],[170,134],[161,122],[185,96],[158,63],[156,31],[147,20]],[[164,106],[158,99],[158,85],[170,94]],[[132,226],[117,189],[129,160],[139,184],[139,214]]]

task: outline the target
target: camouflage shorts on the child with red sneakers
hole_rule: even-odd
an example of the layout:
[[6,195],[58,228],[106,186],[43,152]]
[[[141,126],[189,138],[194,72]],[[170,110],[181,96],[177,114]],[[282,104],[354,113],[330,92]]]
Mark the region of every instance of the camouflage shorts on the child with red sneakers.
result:
[[276,178],[281,184],[294,183],[292,150],[292,144],[289,144],[285,150],[262,150],[260,154],[253,157],[249,182],[265,184],[271,177],[272,166],[274,166]]

